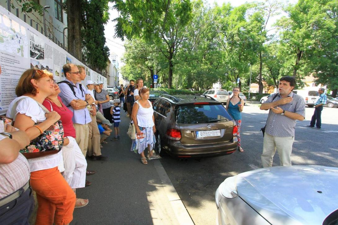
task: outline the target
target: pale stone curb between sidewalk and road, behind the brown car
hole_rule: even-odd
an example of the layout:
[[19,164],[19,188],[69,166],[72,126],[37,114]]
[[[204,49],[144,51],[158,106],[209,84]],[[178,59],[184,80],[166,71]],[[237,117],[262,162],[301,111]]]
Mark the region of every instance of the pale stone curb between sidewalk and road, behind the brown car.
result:
[[182,200],[179,198],[167,172],[162,166],[161,161],[154,161],[154,167],[160,177],[163,189],[168,197],[168,200],[175,213],[178,223],[181,225],[194,225],[194,222],[192,221],[187,208],[183,204]]

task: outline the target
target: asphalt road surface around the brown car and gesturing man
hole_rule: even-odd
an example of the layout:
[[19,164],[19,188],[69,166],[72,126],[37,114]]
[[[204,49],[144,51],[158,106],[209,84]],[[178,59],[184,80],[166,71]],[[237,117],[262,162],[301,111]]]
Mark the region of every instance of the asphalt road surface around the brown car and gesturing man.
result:
[[[306,119],[297,121],[292,151],[293,165],[323,165],[338,167],[338,113],[337,108],[324,107],[322,129],[307,128],[314,108],[306,108]],[[248,104],[242,113],[241,140],[244,152],[204,159],[161,159],[178,195],[195,224],[215,224],[215,192],[227,177],[262,167],[261,153],[268,111],[259,104]],[[273,166],[279,166],[275,154]]]

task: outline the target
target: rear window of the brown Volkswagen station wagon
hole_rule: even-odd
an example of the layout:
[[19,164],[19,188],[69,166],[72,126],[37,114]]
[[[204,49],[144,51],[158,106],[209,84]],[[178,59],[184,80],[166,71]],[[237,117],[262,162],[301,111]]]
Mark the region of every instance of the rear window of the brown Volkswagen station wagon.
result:
[[176,122],[178,123],[211,123],[232,120],[223,105],[179,105],[176,106]]

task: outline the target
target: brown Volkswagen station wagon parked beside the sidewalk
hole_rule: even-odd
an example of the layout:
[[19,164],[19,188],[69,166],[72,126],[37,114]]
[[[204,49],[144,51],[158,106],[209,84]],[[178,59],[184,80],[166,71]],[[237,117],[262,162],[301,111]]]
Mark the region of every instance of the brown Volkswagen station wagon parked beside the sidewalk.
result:
[[235,121],[210,96],[164,94],[153,108],[160,156],[221,156],[237,149]]

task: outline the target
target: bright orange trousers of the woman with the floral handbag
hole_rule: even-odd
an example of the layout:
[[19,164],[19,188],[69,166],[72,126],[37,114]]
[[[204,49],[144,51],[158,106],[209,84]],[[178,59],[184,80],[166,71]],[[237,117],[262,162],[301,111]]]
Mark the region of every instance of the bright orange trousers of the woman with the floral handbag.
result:
[[73,220],[76,196],[57,167],[31,172],[30,186],[39,204],[35,225],[63,225]]

